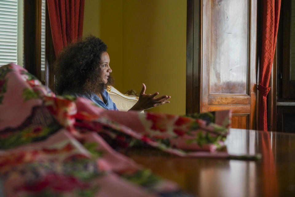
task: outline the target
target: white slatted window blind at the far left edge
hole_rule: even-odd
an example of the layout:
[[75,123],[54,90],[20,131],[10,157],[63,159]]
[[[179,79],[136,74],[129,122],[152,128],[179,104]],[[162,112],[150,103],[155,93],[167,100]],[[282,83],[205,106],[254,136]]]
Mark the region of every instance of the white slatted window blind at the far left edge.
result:
[[[11,62],[18,64],[18,51],[22,51],[18,50],[18,41],[22,42],[18,38],[18,22],[22,24],[18,14],[18,0],[0,0],[0,66]],[[22,30],[19,35],[22,37]],[[22,43],[20,46],[22,48]]]

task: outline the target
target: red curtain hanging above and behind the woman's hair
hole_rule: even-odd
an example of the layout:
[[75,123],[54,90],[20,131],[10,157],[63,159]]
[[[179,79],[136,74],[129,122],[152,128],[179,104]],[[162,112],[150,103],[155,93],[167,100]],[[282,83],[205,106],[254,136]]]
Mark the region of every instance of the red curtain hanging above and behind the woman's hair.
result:
[[55,55],[82,37],[84,0],[47,0]]

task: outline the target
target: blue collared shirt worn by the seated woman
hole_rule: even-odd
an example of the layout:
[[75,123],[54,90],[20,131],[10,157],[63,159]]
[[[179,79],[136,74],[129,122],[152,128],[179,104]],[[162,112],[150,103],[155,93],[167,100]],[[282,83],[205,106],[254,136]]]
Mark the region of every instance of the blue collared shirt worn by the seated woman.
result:
[[110,98],[110,95],[108,95],[107,90],[104,90],[101,93],[101,96],[104,98],[105,101],[107,101],[106,103],[104,103],[104,101],[102,101],[94,93],[92,93],[92,94],[88,94],[88,93],[72,93],[70,91],[65,90],[62,94],[63,95],[73,95],[73,96],[77,96],[77,97],[87,98],[87,99],[92,100],[93,103],[96,103],[97,105],[103,107],[104,109],[118,111],[118,108],[117,108],[116,104],[113,103],[112,99]]

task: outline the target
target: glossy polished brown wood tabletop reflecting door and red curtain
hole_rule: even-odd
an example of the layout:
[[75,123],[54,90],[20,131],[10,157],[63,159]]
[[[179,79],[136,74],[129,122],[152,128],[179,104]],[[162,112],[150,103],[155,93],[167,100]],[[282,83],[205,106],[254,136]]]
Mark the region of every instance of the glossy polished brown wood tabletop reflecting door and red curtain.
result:
[[230,129],[226,147],[230,154],[262,158],[181,158],[147,149],[127,155],[199,197],[295,196],[295,134]]

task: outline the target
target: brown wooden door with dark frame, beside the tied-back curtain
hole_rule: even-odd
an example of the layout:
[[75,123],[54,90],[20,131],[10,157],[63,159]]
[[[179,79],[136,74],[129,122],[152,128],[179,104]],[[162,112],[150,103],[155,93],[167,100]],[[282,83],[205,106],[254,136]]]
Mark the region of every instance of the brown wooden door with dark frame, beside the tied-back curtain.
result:
[[[199,33],[201,49],[199,61],[194,58],[192,63],[199,70],[199,99],[194,99],[199,102],[198,112],[231,109],[233,128],[255,129],[257,1],[195,0],[194,4],[199,4],[199,32],[194,31],[194,36]],[[191,100],[187,101],[188,107]]]

